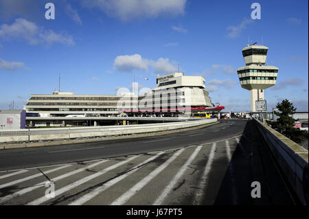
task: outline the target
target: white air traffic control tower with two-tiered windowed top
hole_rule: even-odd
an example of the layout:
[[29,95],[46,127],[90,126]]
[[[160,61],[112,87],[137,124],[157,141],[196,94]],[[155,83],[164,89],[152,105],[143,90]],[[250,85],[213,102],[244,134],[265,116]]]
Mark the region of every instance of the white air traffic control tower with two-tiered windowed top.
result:
[[255,44],[242,49],[246,66],[237,69],[240,85],[250,91],[251,112],[255,112],[256,100],[264,100],[264,89],[275,85],[279,70],[265,65],[268,47]]

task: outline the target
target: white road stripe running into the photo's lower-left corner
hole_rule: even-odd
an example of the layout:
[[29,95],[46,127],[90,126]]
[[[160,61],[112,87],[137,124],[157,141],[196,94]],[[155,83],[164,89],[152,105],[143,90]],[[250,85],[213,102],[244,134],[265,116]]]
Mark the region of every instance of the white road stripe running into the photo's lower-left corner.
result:
[[[86,170],[86,169],[93,168],[93,167],[95,167],[96,165],[99,165],[99,164],[101,164],[101,163],[105,163],[106,161],[107,161],[107,160],[102,160],[102,161],[93,163],[93,164],[91,164],[91,165],[88,165],[88,166],[86,166],[86,167],[84,167],[84,168],[80,168],[80,169],[78,169],[78,170],[73,170],[73,171],[71,171],[71,172],[67,172],[66,174],[62,174],[62,175],[60,175],[60,176],[57,176],[57,177],[55,177],[55,178],[52,178],[51,181],[56,182],[56,181],[58,181],[58,180],[60,180],[60,179],[62,179],[62,178],[66,178],[66,177],[71,176],[71,175],[73,175],[73,174],[78,174],[79,172],[82,172],[82,171],[84,171],[84,170]],[[27,193],[27,192],[31,192],[31,191],[33,191],[34,189],[38,189],[39,187],[43,187],[43,186],[45,186],[45,183],[49,183],[49,181],[44,181],[44,182],[38,183],[38,184],[36,184],[36,185],[34,185],[34,186],[32,186],[32,187],[27,187],[27,188],[25,188],[25,189],[21,189],[19,192],[14,192],[13,194],[9,194],[8,196],[1,197],[1,198],[0,198],[0,203],[3,203],[3,202],[5,202],[5,201],[7,201],[7,200],[10,200],[10,199],[12,199],[12,198],[16,198],[17,196],[21,196],[21,195],[23,195],[23,194],[25,194],[25,193]]]

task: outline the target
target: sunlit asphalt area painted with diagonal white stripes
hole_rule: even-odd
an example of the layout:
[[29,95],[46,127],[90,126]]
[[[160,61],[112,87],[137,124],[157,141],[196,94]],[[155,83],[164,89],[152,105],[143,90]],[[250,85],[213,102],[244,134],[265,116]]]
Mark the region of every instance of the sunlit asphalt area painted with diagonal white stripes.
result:
[[0,205],[211,204],[239,139],[0,172]]

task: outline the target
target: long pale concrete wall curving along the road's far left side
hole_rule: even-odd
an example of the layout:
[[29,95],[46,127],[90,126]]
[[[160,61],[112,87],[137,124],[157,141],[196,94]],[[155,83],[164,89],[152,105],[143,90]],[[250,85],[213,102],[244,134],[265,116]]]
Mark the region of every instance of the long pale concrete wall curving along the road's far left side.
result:
[[0,142],[36,141],[52,139],[71,139],[79,137],[100,137],[114,135],[129,135],[165,130],[190,128],[217,122],[217,119],[201,119],[188,122],[169,122],[161,124],[142,124],[130,126],[95,126],[81,128],[42,128],[25,130],[0,130]]

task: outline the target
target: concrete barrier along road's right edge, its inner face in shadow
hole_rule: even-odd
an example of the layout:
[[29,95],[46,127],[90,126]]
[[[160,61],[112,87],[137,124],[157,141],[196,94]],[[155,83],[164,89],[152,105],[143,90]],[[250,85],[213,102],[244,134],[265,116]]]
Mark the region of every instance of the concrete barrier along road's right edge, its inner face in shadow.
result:
[[304,180],[306,178],[304,174],[308,174],[304,171],[308,168],[308,150],[266,124],[257,119],[254,120],[273,157],[279,164],[279,168],[284,172],[299,200],[302,204],[308,205],[308,200],[306,200],[308,190],[304,191],[304,185],[308,185],[308,181]]

